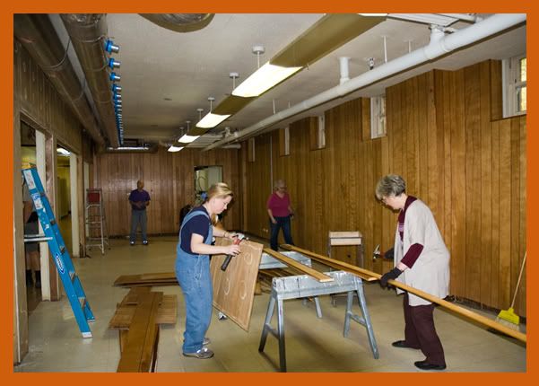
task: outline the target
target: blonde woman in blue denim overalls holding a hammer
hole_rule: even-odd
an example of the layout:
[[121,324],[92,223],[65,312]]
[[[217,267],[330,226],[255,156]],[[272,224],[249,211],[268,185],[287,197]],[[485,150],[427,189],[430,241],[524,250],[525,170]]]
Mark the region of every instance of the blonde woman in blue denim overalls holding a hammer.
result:
[[227,208],[232,195],[226,184],[212,185],[204,204],[186,215],[179,230],[175,270],[186,303],[186,331],[182,347],[186,356],[199,359],[213,356],[213,351],[204,347],[209,343],[204,335],[210,327],[213,303],[209,255],[237,255],[239,246],[212,245],[213,236],[230,239],[236,236],[213,226],[212,219]]

